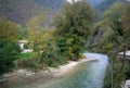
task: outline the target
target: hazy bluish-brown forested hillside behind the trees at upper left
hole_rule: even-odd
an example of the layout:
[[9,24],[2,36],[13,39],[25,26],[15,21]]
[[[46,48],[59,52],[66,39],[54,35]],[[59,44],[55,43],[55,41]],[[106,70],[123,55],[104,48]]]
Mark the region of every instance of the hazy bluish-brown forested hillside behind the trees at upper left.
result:
[[55,13],[63,0],[0,0],[0,17],[25,25],[39,13]]

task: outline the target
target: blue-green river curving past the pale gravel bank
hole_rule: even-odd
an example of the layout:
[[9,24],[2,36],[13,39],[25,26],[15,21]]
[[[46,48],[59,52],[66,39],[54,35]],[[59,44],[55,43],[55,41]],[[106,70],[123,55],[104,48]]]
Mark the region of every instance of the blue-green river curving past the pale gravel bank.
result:
[[98,61],[84,62],[66,76],[52,79],[46,84],[36,83],[16,88],[103,88],[108,58],[104,54],[84,53],[87,59]]

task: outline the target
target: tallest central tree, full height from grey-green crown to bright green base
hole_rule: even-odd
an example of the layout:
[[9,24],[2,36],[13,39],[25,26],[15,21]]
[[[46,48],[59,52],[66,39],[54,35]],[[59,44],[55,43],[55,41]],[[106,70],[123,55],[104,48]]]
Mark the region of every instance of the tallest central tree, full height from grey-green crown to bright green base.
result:
[[83,1],[63,5],[60,14],[55,17],[56,45],[61,55],[70,60],[77,60],[83,50],[83,41],[90,34],[93,9]]

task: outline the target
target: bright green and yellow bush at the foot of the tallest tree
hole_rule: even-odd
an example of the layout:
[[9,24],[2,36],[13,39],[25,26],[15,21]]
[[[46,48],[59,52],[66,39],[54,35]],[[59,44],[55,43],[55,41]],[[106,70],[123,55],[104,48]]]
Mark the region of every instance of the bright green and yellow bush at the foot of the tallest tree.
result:
[[56,40],[58,52],[61,55],[69,60],[78,60],[80,53],[83,51],[83,39],[77,35],[70,35],[69,37],[61,37]]

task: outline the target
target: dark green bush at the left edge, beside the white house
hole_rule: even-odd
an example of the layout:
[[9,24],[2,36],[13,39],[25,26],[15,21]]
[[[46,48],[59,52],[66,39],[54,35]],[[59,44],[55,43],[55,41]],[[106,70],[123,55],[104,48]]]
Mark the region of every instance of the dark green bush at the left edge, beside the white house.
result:
[[17,60],[20,47],[11,40],[0,41],[0,74],[11,71],[14,66],[13,62]]

